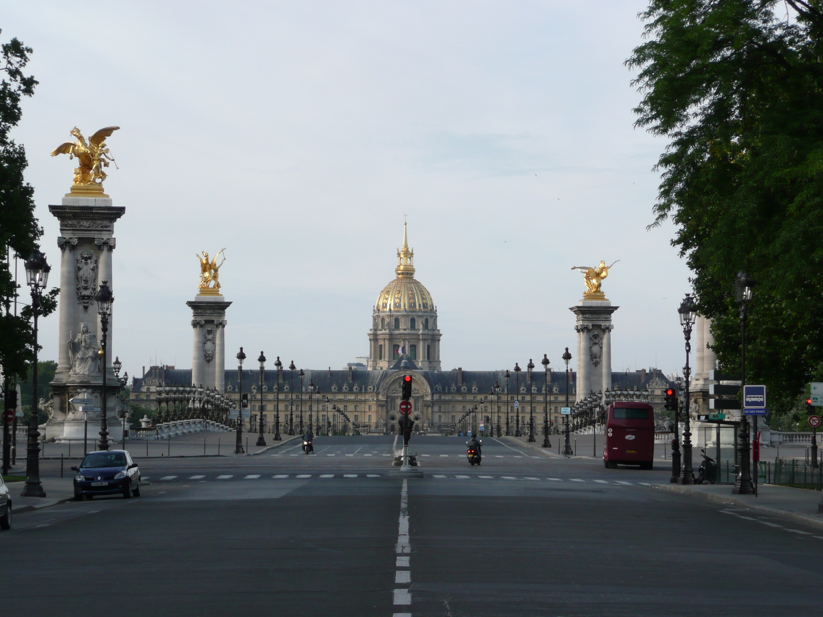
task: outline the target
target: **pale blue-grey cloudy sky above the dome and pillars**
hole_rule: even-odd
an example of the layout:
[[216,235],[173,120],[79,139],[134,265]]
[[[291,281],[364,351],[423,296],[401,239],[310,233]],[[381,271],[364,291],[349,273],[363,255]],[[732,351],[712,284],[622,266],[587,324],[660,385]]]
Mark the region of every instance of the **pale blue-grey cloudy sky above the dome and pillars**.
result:
[[[126,208],[112,353],[130,375],[191,367],[195,253],[224,247],[226,368],[239,346],[306,369],[367,355],[404,216],[444,370],[560,369],[584,291],[571,267],[619,259],[613,369],[681,372],[689,271],[671,224],[647,230],[666,141],[634,127],[624,66],[645,2],[0,7],[0,39],[34,49],[13,137],[53,265],[48,205],[75,165],[49,152],[72,127],[120,127],[105,192]],[[56,313],[40,343],[57,358]]]

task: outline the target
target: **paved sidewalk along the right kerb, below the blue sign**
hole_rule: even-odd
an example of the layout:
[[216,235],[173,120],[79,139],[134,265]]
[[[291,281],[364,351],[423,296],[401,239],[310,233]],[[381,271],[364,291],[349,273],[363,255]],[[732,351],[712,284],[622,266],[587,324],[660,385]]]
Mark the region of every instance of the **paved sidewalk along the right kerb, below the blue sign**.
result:
[[758,495],[734,495],[732,485],[652,485],[667,490],[706,499],[727,506],[749,508],[753,512],[794,522],[805,522],[823,528],[823,514],[817,513],[821,493],[816,490],[793,489],[788,486],[758,485]]

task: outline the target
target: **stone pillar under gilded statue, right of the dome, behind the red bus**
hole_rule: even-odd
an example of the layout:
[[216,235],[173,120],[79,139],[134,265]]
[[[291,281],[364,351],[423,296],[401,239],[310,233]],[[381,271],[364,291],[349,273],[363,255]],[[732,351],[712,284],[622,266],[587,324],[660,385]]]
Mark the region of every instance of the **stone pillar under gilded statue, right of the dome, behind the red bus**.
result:
[[611,313],[617,308],[606,298],[582,299],[569,308],[577,316],[577,401],[611,387]]

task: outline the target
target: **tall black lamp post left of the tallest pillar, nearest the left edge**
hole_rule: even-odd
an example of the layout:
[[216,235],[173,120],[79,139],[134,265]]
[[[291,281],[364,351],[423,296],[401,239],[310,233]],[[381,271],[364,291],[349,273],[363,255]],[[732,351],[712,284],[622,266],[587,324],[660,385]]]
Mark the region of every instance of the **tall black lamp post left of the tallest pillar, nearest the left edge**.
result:
[[[36,246],[31,257],[26,260],[26,280],[31,288],[31,312],[34,318],[33,326],[35,333],[34,340],[34,364],[31,371],[31,415],[29,418],[29,439],[26,445],[26,487],[21,493],[22,497],[45,497],[46,492],[40,483],[40,431],[37,430],[37,317],[40,313],[40,299],[43,297],[43,290],[49,281],[49,271],[51,267],[46,262],[46,256],[40,253],[40,246]],[[11,517],[11,514],[9,515]]]

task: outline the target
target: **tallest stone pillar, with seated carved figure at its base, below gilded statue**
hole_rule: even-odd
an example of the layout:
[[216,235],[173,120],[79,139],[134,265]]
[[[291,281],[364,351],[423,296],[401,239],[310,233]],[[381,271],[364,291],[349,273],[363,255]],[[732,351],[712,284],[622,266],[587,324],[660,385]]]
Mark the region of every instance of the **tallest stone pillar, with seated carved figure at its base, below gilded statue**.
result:
[[[101,193],[102,194],[102,193]],[[58,367],[51,383],[53,401],[51,417],[46,423],[45,437],[82,439],[83,421],[88,420],[89,448],[100,438],[100,412],[84,414],[68,401],[86,397],[101,406],[103,373],[106,371],[107,419],[109,440],[120,441],[123,429],[119,420],[123,406],[118,400],[120,384],[114,377],[111,362],[114,351],[114,313],[109,318],[106,366],[102,367],[96,351],[100,349],[102,332],[97,314],[95,294],[100,283],[107,281],[117,296],[112,276],[112,253],[116,246],[114,221],[126,211],[112,206],[109,197],[78,197],[71,193],[63,197],[60,206],[49,206],[60,221],[57,239],[61,251]],[[86,417],[87,416],[87,417]]]

